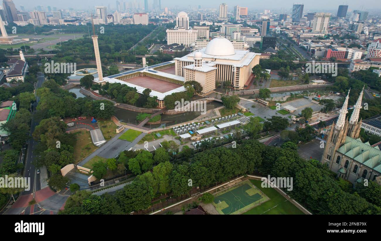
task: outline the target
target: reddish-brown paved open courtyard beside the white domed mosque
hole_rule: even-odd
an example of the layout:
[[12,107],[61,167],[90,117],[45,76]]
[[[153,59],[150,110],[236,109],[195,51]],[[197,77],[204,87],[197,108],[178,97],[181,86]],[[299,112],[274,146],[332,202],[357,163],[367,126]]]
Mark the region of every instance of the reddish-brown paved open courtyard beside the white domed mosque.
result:
[[160,93],[165,93],[167,91],[181,87],[181,85],[174,84],[165,80],[155,79],[149,76],[137,76],[123,81],[134,85],[139,85],[144,88],[149,88],[150,90],[155,90]]

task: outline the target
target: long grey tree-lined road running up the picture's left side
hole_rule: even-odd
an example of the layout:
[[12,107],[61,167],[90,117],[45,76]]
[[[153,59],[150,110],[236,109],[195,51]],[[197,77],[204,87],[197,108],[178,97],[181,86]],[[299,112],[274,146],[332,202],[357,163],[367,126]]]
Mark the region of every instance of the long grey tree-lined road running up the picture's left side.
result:
[[[36,89],[40,88],[42,83],[45,80],[45,76],[43,73],[39,72],[37,74],[37,84],[36,84]],[[35,127],[39,124],[39,122],[34,120],[34,113],[36,111],[36,106],[38,102],[40,101],[40,98],[36,95],[36,101],[34,103],[33,107],[33,116],[32,116],[32,121],[31,121],[31,127],[30,127],[30,133],[29,135],[32,136],[32,133],[34,132]],[[35,166],[32,164],[32,161],[35,160],[35,154],[33,153],[34,150],[36,149],[37,146],[37,141],[33,140],[33,138],[30,138],[28,141],[28,149],[27,149],[27,156],[25,158],[25,170],[24,170],[24,177],[30,177],[30,184],[31,188],[29,191],[22,191],[22,195],[24,194],[32,194],[35,191],[38,191],[41,189],[40,186],[40,174],[37,174]],[[35,188],[34,188],[35,185]]]

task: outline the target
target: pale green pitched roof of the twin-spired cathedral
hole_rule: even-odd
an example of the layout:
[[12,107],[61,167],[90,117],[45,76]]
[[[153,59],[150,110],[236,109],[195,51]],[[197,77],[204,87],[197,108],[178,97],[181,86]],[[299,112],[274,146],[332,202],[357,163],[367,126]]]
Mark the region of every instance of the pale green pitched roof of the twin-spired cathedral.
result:
[[368,142],[362,143],[360,138],[346,137],[338,152],[381,173],[381,151],[370,146]]

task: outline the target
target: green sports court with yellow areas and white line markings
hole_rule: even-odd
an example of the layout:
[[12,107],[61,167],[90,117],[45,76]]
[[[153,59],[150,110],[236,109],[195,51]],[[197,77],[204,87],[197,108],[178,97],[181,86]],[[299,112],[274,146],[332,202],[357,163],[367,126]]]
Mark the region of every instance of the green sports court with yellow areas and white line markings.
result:
[[249,180],[245,180],[218,193],[213,205],[220,214],[240,214],[268,199]]

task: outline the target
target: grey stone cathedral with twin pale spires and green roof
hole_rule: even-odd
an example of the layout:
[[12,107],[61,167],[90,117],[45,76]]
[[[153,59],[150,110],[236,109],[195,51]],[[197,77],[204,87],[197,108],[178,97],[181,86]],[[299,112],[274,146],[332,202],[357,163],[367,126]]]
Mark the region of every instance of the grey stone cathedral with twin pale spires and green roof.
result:
[[351,183],[363,182],[364,179],[379,180],[381,174],[381,151],[378,146],[363,143],[360,138],[362,119],[359,121],[362,108],[363,91],[360,93],[351,118],[348,121],[349,92],[345,98],[343,108],[339,111],[338,120],[332,124],[325,143],[322,163],[335,173],[337,177]]

